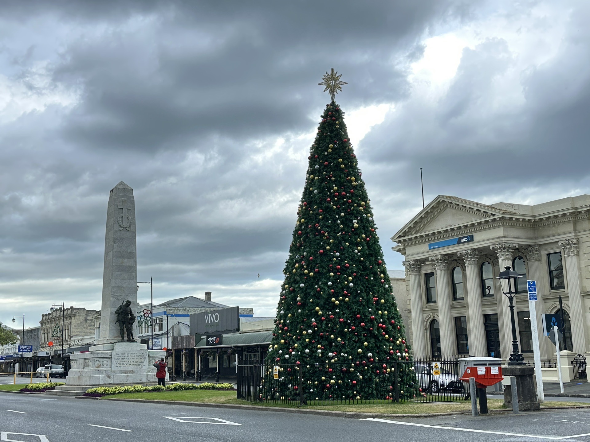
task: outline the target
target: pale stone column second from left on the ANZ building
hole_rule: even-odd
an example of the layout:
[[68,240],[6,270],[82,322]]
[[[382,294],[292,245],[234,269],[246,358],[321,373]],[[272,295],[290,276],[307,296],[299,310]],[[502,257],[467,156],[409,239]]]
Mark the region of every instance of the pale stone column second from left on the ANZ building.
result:
[[438,324],[441,332],[441,355],[451,356],[457,354],[457,342],[455,341],[453,317],[451,316],[451,291],[448,276],[448,256],[430,256],[434,263],[437,277],[437,305]]

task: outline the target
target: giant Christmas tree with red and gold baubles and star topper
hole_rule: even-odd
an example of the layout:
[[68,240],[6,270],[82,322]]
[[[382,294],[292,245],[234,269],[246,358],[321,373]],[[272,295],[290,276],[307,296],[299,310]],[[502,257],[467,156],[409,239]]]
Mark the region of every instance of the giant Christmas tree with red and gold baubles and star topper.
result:
[[273,382],[269,370],[263,399],[295,399],[298,388],[312,399],[415,394],[412,364],[394,364],[409,361],[410,348],[344,113],[334,101],[346,84],[336,74],[326,72],[320,83],[332,102],[311,147],[266,360],[280,367],[284,382]]

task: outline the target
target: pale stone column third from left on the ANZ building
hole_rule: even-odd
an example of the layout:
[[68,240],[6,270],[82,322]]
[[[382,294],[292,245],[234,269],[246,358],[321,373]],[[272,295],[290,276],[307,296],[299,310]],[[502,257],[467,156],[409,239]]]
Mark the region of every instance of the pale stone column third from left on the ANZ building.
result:
[[469,312],[469,354],[487,356],[486,331],[481,314],[481,280],[478,260],[480,252],[476,249],[458,252],[465,261],[467,273],[467,308]]

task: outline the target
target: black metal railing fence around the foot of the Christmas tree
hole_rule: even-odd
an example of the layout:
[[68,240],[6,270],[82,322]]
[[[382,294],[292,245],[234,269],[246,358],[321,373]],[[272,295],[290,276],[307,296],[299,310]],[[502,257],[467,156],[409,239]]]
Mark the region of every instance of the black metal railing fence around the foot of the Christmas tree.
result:
[[[435,363],[435,364],[434,364]],[[296,405],[454,402],[469,397],[456,359],[237,366],[237,398]]]

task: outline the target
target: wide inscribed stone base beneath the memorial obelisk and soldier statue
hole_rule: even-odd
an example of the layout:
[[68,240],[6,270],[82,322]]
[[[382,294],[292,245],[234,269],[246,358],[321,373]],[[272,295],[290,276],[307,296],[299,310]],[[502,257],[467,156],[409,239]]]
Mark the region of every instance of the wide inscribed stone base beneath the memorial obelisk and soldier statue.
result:
[[117,385],[156,382],[153,363],[166,355],[139,342],[115,342],[90,347],[70,357],[65,385]]

